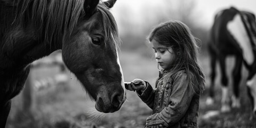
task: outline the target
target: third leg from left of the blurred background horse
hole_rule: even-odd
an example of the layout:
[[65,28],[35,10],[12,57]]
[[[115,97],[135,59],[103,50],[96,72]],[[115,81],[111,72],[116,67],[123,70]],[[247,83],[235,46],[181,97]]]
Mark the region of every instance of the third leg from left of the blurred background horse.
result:
[[242,55],[238,55],[236,57],[235,67],[233,70],[233,92],[234,95],[232,96],[232,107],[239,108],[241,106],[239,100],[239,83],[241,81],[241,70],[242,70],[242,62],[243,57]]

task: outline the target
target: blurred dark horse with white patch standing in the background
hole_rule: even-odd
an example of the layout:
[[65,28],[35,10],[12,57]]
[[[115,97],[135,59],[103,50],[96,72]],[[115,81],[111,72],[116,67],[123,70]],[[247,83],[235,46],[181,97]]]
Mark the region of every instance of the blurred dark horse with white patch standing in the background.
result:
[[230,111],[228,98],[228,77],[226,75],[225,59],[228,55],[235,57],[233,69],[233,91],[231,98],[232,107],[239,108],[239,83],[241,81],[242,64],[249,70],[247,77],[247,91],[253,105],[253,113],[256,114],[256,22],[255,15],[239,11],[234,7],[222,10],[215,15],[214,24],[211,29],[209,52],[211,57],[211,84],[210,98],[206,104],[213,103],[214,79],[216,61],[220,62],[222,86],[221,111]]

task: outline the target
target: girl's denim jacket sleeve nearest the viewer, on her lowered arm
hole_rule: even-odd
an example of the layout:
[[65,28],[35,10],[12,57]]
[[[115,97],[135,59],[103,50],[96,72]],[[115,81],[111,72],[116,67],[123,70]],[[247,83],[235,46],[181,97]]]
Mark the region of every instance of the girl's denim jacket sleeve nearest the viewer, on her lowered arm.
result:
[[174,78],[169,105],[160,113],[153,114],[147,118],[146,125],[162,125],[167,127],[180,121],[185,116],[190,105],[192,95],[188,93],[188,79],[186,74]]

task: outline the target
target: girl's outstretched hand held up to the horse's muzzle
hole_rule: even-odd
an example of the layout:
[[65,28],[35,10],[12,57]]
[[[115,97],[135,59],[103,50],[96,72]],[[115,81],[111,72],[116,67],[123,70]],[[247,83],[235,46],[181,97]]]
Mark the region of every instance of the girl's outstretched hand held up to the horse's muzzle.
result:
[[142,81],[141,79],[133,79],[133,81],[127,85],[127,89],[130,91],[143,91],[146,89],[146,87],[146,82]]

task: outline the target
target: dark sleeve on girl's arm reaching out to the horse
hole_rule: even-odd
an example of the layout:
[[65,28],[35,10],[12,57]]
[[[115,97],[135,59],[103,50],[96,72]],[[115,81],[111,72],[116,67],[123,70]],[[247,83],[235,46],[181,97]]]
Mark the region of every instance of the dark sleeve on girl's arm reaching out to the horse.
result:
[[155,98],[155,90],[153,87],[145,81],[147,84],[146,89],[143,92],[137,91],[137,94],[139,95],[140,99],[146,103],[146,105],[153,109],[154,107],[154,98]]

